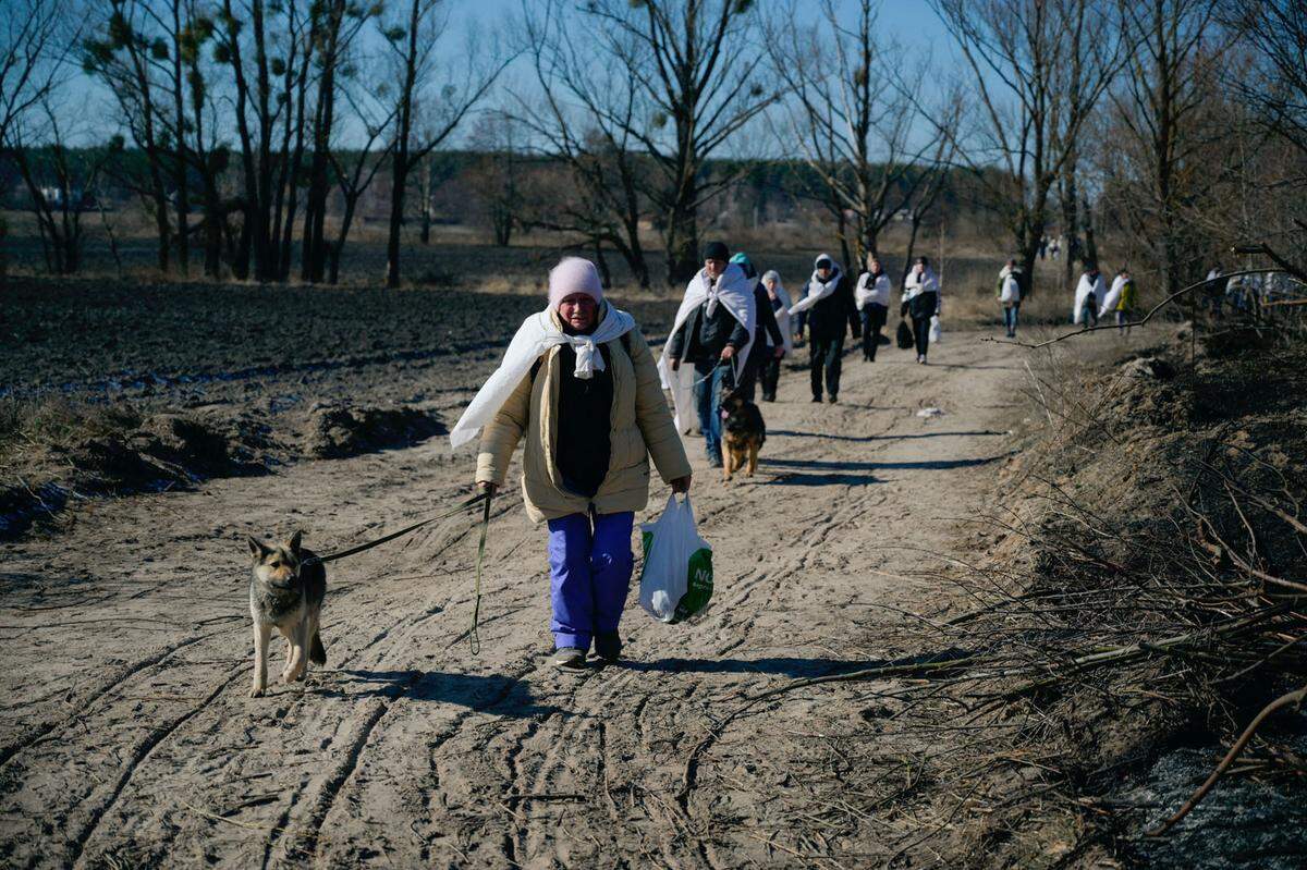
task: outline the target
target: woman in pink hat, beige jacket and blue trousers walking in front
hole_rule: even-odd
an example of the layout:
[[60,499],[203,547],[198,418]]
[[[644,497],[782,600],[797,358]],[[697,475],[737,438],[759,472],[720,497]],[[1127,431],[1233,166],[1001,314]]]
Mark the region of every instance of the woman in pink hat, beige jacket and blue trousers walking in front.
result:
[[689,491],[690,462],[644,336],[604,300],[588,260],[549,273],[549,307],[523,323],[450,440],[459,447],[482,427],[476,482],[488,492],[525,439],[523,502],[549,526],[554,664],[586,668],[592,643],[616,661],[650,457],[674,492]]

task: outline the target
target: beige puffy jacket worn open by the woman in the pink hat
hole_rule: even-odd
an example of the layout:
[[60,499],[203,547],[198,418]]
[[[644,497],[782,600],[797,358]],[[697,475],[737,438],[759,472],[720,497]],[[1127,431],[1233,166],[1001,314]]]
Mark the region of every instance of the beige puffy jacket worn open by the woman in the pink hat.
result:
[[[606,316],[605,303],[601,316]],[[554,325],[562,328],[558,315]],[[613,406],[609,419],[612,453],[608,477],[593,499],[575,495],[562,487],[554,460],[558,431],[558,385],[562,378],[559,347],[541,358],[536,376],[521,379],[518,388],[481,434],[477,456],[477,483],[503,486],[508,462],[518,442],[525,435],[521,495],[527,516],[533,523],[557,520],[571,513],[640,511],[650,495],[650,456],[665,483],[690,473],[685,445],[667,409],[659,383],[654,354],[640,330],[631,329],[623,342],[608,342],[613,375]],[[625,345],[630,345],[630,354]]]

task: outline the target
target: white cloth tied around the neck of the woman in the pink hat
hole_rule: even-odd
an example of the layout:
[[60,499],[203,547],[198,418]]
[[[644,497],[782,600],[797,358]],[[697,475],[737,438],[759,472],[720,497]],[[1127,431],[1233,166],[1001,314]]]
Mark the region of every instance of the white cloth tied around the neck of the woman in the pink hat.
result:
[[600,317],[599,327],[588,336],[565,333],[554,323],[553,311],[548,308],[527,317],[518,328],[518,334],[508,342],[503,362],[486,379],[472,404],[463,411],[463,417],[450,430],[450,445],[457,449],[473,440],[481,427],[499,413],[536,361],[557,345],[571,345],[576,350],[576,378],[588,380],[596,371],[604,371],[604,354],[599,351],[599,345],[617,341],[634,329],[635,317],[606,303],[600,311]]

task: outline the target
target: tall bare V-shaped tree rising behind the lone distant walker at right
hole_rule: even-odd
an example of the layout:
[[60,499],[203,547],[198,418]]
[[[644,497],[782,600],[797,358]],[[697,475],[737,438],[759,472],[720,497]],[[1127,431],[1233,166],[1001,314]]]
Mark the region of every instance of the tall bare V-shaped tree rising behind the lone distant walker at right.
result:
[[[979,131],[959,153],[1001,204],[1034,276],[1050,199],[1128,55],[1112,0],[931,0],[972,73]],[[999,165],[1002,174],[984,171]],[[1031,281],[1031,290],[1033,290]]]

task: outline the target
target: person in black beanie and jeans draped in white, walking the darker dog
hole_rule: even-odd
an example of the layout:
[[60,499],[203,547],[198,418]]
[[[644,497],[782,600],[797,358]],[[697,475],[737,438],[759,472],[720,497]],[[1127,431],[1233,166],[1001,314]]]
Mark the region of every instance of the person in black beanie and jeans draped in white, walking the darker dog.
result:
[[727,263],[729,257],[721,242],[704,247],[703,269],[685,287],[659,359],[677,430],[689,431],[693,409],[714,468],[721,468],[721,393],[742,381],[758,324],[754,280],[738,264]]

